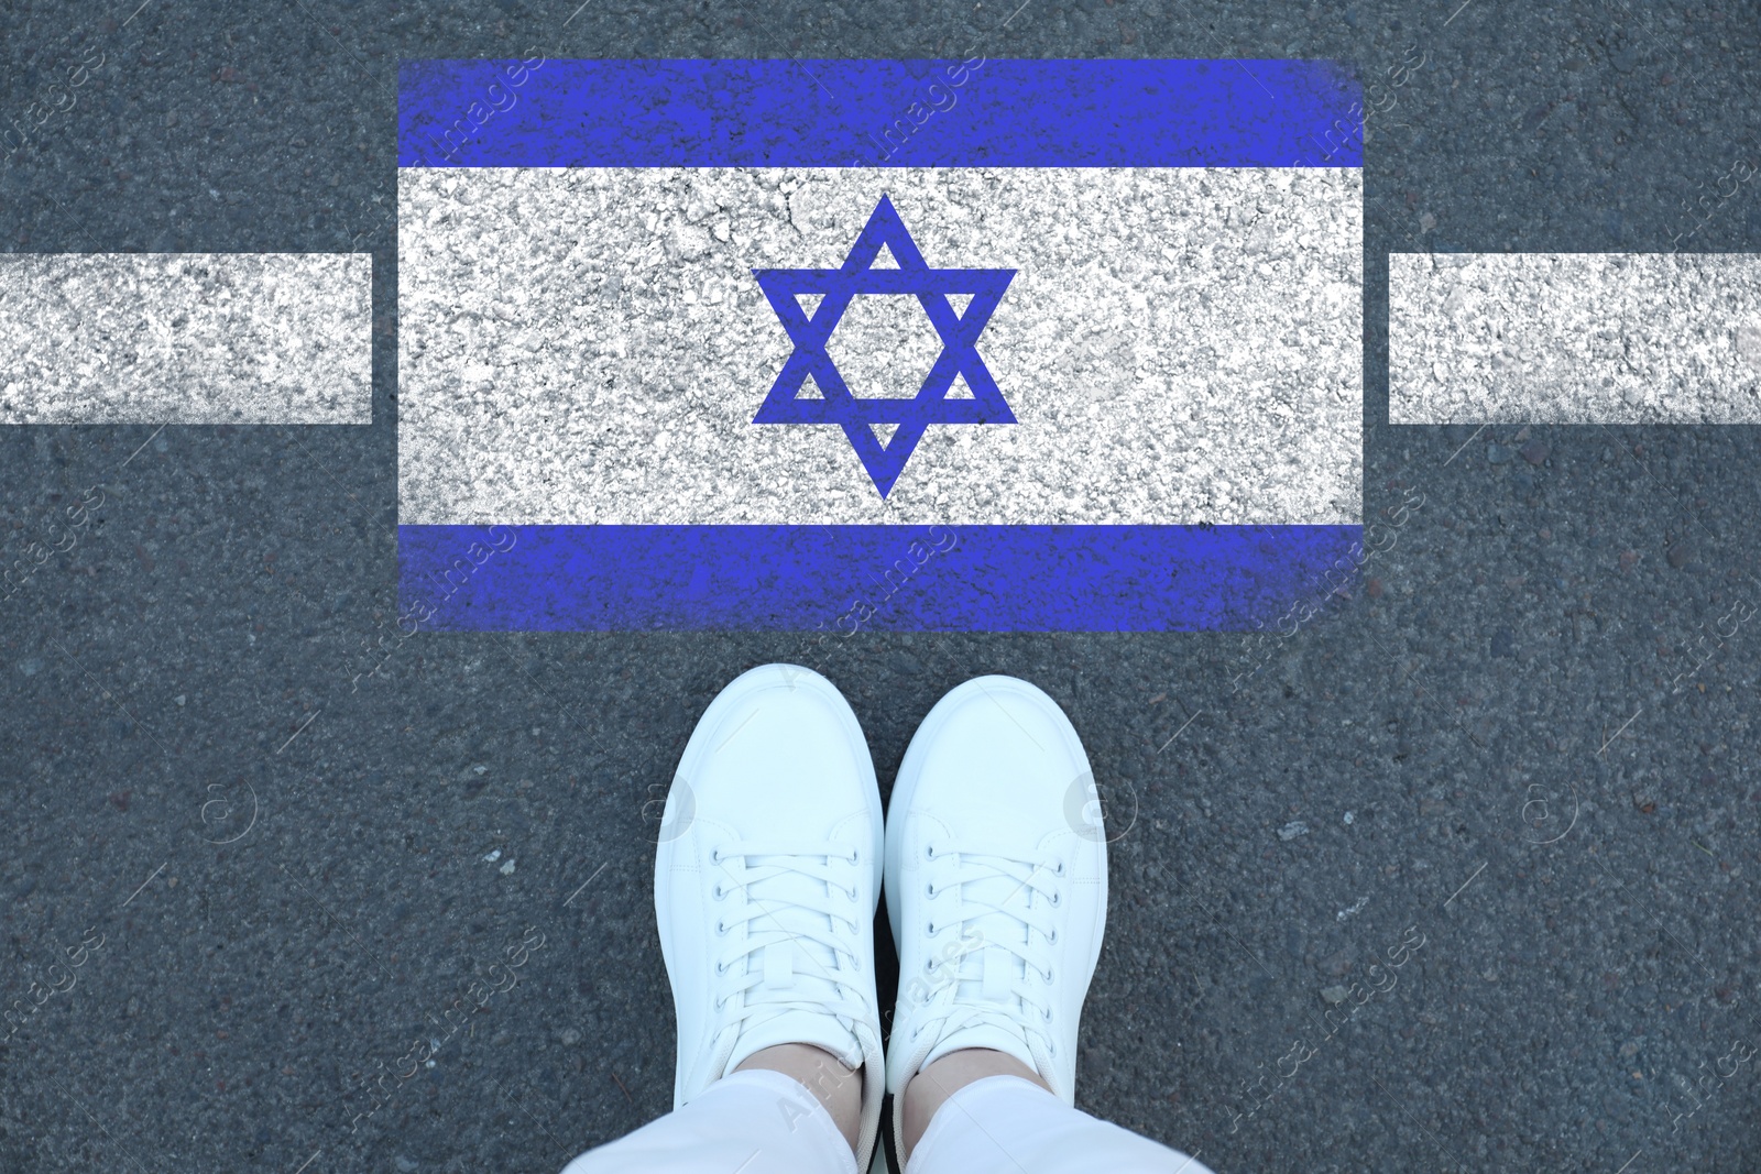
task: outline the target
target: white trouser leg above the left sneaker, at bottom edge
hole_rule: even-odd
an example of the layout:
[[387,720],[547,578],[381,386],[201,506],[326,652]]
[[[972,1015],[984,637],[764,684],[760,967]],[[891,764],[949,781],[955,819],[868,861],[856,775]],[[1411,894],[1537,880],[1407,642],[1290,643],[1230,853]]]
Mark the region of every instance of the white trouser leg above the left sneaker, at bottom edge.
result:
[[799,1081],[731,1072],[683,1109],[588,1149],[564,1174],[858,1174],[856,1155]]

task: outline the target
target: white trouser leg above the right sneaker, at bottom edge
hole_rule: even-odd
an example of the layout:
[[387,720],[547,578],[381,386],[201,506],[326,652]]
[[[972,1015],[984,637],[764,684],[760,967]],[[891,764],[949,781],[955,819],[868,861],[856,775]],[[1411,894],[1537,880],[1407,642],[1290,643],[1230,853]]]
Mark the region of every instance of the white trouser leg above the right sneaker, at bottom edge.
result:
[[1014,1075],[942,1102],[905,1174],[1212,1174],[1178,1149],[1071,1109]]

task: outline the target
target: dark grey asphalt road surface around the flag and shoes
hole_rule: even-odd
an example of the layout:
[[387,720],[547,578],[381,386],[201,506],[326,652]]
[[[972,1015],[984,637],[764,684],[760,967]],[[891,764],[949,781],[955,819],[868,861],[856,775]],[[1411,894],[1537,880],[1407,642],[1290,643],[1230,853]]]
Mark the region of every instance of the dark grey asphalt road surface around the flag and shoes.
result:
[[137,2],[0,9],[0,250],[372,252],[373,424],[0,428],[0,1170],[542,1172],[671,1104],[659,797],[812,648],[394,627],[396,62],[532,46],[1354,62],[1368,584],[817,664],[882,789],[970,676],[1069,711],[1083,1107],[1217,1174],[1754,1169],[1761,437],[1389,428],[1384,375],[1391,252],[1761,250],[1754,181],[1699,204],[1761,164],[1752,7]]

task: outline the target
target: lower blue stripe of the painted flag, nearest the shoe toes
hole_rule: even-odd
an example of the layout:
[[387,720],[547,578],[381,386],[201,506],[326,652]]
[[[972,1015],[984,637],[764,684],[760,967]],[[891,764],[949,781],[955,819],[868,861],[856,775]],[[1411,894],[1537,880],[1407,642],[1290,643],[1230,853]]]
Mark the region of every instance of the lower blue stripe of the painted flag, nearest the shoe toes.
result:
[[1349,583],[1361,537],[1361,526],[398,526],[400,627],[1245,630]]

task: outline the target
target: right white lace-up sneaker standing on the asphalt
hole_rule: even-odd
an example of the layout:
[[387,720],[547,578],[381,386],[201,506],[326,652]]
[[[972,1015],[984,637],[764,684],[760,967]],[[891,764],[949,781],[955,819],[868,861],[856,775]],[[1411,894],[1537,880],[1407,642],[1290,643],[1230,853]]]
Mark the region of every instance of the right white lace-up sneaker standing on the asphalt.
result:
[[886,820],[898,945],[888,1044],[903,1156],[905,1084],[993,1047],[1076,1102],[1076,1024],[1106,926],[1106,836],[1081,739],[1027,681],[953,690],[910,739]]

